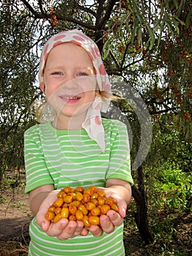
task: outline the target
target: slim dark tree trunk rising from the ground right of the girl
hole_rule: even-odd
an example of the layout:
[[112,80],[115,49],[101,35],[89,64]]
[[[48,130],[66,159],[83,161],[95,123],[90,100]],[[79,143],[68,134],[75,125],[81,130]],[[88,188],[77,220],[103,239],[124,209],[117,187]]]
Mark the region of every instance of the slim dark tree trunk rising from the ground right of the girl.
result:
[[142,166],[137,169],[137,178],[138,189],[135,186],[132,187],[132,195],[137,206],[137,212],[134,213],[134,218],[142,240],[145,241],[146,244],[150,244],[153,242],[153,236],[150,233],[150,228],[147,221],[147,196],[145,193]]

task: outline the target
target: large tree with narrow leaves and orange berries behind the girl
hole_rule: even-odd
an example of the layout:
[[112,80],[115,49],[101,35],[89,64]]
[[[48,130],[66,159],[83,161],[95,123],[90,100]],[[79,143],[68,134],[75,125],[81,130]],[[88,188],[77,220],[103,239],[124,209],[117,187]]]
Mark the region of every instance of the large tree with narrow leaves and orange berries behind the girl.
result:
[[[0,176],[7,168],[23,165],[21,138],[24,130],[36,122],[31,105],[42,97],[36,86],[39,50],[50,35],[66,29],[77,28],[88,34],[99,46],[112,79],[120,78],[136,89],[151,116],[174,114],[177,129],[182,129],[183,138],[191,143],[191,1],[4,0],[0,7]],[[126,95],[129,103],[133,101],[140,108],[138,97],[130,95]],[[118,107],[132,124],[138,124],[135,110],[127,102],[120,102]],[[137,127],[132,129],[133,162],[141,135]],[[144,167],[139,166],[133,173],[138,178],[133,196],[137,202],[137,225],[141,233],[145,230],[145,241],[150,242],[153,238],[149,230],[145,236]],[[142,227],[139,219],[144,219]]]

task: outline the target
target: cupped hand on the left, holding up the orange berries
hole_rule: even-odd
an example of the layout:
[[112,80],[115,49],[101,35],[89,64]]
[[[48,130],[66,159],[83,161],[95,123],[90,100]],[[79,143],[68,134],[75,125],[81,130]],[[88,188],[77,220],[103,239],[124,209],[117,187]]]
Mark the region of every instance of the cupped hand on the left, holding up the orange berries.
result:
[[55,236],[59,240],[66,240],[78,235],[87,236],[88,230],[85,229],[81,221],[74,222],[68,219],[60,219],[58,222],[54,223],[45,219],[47,208],[57,199],[58,191],[59,190],[53,190],[50,192],[42,202],[36,216],[37,224],[42,227],[42,230],[44,230],[48,236]]

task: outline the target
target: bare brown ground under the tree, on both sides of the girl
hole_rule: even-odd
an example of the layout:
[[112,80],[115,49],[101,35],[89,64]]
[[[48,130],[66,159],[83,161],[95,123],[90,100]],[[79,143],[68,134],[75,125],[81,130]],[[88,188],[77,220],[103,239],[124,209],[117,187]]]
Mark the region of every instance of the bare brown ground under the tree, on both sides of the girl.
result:
[[[24,184],[16,188],[12,184],[1,185],[0,190],[0,256],[27,256],[30,241],[28,225],[32,215],[28,208],[28,196],[24,194]],[[130,224],[124,234],[126,256],[191,255],[191,220],[190,213],[174,219],[175,235],[169,241],[169,248],[162,242],[164,250],[159,241],[144,245],[137,227],[134,223]],[[163,238],[160,240],[163,241]]]

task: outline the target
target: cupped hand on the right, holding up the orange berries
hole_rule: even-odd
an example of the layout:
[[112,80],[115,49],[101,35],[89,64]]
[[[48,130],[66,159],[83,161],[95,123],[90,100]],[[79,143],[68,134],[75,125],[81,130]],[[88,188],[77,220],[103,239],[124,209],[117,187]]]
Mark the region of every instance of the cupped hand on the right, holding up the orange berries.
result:
[[101,236],[103,233],[112,233],[115,230],[116,226],[119,226],[123,223],[123,218],[126,217],[126,201],[119,197],[117,194],[112,192],[110,188],[103,188],[102,189],[106,197],[113,197],[117,200],[119,212],[110,210],[107,212],[107,215],[101,215],[100,217],[100,227],[97,225],[91,225],[88,230],[93,234],[93,236]]

